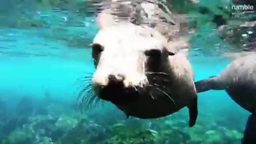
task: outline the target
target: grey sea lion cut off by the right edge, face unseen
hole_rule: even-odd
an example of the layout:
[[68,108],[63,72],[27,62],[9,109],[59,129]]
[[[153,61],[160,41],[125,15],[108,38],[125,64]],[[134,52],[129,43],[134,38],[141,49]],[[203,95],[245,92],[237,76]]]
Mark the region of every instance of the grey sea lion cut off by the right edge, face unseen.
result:
[[198,93],[225,90],[239,106],[252,115],[248,118],[243,144],[256,142],[256,54],[237,58],[218,75],[195,82]]

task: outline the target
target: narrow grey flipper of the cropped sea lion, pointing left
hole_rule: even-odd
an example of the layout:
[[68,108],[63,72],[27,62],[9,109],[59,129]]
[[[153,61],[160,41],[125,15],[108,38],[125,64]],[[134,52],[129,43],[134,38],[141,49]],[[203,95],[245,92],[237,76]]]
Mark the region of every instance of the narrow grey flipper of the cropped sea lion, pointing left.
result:
[[222,84],[218,82],[216,76],[211,76],[210,78],[199,80],[195,82],[196,92],[205,92],[208,90],[222,90]]

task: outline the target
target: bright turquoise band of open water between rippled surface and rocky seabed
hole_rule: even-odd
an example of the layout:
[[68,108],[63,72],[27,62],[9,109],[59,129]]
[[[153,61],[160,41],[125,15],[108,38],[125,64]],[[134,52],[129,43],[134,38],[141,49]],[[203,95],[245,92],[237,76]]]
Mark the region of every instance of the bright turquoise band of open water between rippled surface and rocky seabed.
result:
[[[2,98],[13,102],[22,96],[43,98],[45,90],[48,90],[54,98],[71,102],[76,100],[77,96],[76,79],[82,78],[85,72],[94,71],[90,47],[70,48],[65,42],[42,38],[42,31],[44,30],[0,31]],[[96,34],[96,31],[92,33]],[[93,38],[94,35],[90,36]],[[200,40],[194,42],[200,43]],[[205,48],[204,45],[201,46]],[[220,56],[202,54],[189,56],[189,60],[194,68],[195,80],[218,75],[230,63],[230,60]],[[200,114],[212,113],[213,121],[220,116],[224,118],[225,114],[243,114],[238,116],[238,121],[243,123],[247,119],[248,113],[222,90],[204,92],[198,97]]]

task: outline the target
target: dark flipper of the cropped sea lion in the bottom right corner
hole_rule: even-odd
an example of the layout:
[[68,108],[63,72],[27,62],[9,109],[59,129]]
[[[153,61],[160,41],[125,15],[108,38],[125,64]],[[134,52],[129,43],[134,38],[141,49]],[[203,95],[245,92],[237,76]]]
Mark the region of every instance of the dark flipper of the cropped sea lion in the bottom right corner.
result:
[[242,144],[256,144],[256,115],[251,114],[247,120]]

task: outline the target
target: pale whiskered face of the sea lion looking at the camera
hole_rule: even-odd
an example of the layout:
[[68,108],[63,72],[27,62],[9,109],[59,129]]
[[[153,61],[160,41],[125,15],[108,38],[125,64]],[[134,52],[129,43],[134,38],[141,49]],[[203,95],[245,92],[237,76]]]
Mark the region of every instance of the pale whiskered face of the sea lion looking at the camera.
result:
[[149,96],[147,88],[159,79],[154,74],[168,72],[168,56],[174,55],[164,40],[156,31],[130,23],[100,30],[92,44],[94,93],[118,105]]

